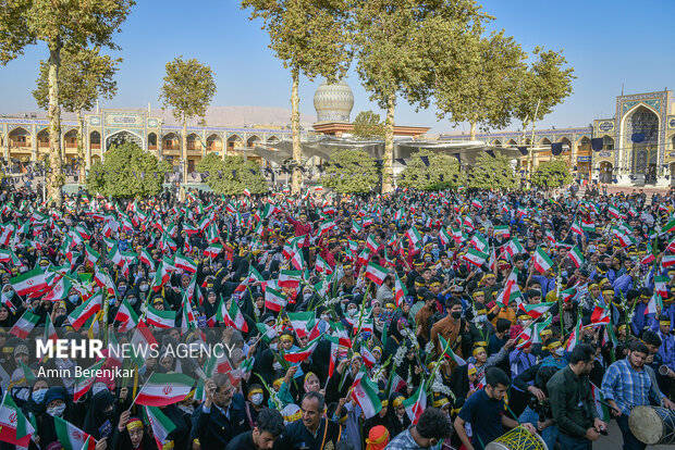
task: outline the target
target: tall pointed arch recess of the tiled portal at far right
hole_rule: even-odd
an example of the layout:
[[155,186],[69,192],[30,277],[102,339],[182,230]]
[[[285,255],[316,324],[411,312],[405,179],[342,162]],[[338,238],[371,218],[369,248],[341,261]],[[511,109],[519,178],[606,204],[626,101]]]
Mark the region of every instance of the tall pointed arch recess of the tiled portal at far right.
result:
[[645,175],[645,184],[656,183],[659,116],[650,109],[639,105],[626,118],[625,129],[633,145],[631,172]]

